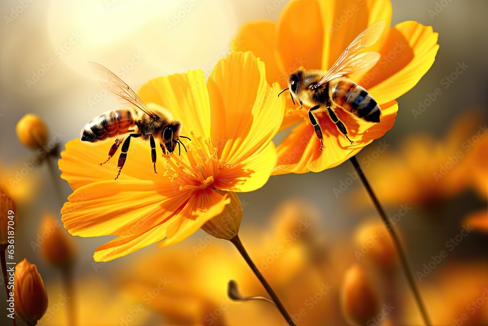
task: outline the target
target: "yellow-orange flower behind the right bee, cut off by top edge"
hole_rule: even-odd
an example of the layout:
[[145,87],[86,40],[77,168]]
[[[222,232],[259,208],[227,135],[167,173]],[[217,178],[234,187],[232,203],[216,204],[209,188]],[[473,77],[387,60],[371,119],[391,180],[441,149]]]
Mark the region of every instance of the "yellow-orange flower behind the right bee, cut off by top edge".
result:
[[[286,4],[278,22],[248,22],[238,32],[237,51],[253,51],[266,64],[268,82],[286,88],[288,75],[300,66],[329,69],[339,55],[368,25],[391,23],[389,0],[293,0]],[[369,123],[344,109],[338,118],[346,125],[350,142],[339,132],[326,113],[318,114],[324,134],[324,151],[307,116],[291,99],[282,130],[298,125],[277,147],[278,165],[274,174],[319,172],[332,168],[357,154],[363,147],[388,131],[395,121],[395,99],[417,84],[434,62],[439,45],[432,27],[417,22],[401,22],[386,28],[368,50],[381,54],[380,61],[367,72],[351,76],[365,87],[380,105],[381,122]]]

